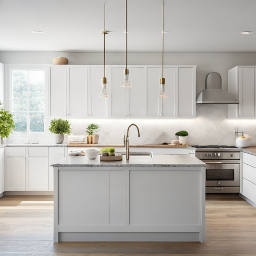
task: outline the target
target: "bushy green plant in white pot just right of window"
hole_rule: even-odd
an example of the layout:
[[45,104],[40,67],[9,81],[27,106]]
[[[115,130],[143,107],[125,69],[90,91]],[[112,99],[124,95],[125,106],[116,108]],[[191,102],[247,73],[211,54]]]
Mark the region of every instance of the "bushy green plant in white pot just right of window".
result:
[[64,140],[64,134],[70,134],[71,128],[68,120],[52,119],[50,121],[49,131],[55,134],[56,144],[61,144]]

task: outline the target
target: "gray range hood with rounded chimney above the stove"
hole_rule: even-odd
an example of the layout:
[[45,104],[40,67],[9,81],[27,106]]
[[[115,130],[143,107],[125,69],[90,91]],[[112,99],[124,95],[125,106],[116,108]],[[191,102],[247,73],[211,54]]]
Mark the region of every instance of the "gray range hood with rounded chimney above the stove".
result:
[[206,76],[206,88],[196,98],[197,104],[238,104],[236,99],[228,91],[221,89],[221,76],[217,72],[208,73]]

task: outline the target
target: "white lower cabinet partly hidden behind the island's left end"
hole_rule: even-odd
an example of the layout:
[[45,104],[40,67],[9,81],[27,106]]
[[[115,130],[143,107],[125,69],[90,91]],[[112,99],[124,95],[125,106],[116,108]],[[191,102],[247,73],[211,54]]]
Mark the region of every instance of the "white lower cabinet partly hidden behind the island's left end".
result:
[[49,191],[53,191],[53,167],[51,164],[65,157],[65,147],[49,147]]

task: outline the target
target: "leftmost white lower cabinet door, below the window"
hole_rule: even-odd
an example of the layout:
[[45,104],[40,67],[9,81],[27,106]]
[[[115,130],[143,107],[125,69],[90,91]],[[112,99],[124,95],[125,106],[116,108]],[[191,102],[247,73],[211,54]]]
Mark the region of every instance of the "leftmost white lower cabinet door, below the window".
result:
[[5,190],[24,191],[26,176],[25,147],[5,148]]

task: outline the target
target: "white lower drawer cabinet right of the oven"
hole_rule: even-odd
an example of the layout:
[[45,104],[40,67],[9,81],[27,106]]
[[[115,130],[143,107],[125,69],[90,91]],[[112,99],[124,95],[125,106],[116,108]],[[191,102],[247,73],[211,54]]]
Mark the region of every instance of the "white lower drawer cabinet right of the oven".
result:
[[256,156],[243,153],[242,195],[256,204]]

